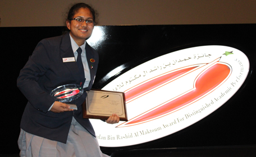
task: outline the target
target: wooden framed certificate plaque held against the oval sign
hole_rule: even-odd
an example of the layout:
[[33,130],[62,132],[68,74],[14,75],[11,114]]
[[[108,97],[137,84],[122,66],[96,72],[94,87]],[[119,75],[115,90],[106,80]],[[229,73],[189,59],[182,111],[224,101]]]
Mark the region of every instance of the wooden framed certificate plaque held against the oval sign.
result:
[[83,117],[107,120],[116,113],[120,121],[128,121],[126,113],[125,93],[91,89],[86,91],[83,103]]

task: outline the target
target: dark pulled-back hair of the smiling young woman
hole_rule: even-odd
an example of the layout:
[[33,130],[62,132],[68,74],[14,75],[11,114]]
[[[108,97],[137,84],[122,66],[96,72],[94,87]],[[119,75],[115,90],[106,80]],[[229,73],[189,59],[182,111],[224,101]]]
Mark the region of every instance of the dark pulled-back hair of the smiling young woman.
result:
[[74,18],[74,15],[78,12],[78,10],[80,8],[88,8],[90,10],[90,12],[92,13],[93,15],[93,20],[95,21],[95,24],[97,24],[96,22],[96,17],[98,16],[98,13],[97,11],[95,11],[91,6],[89,6],[88,4],[85,4],[85,3],[77,3],[75,4],[74,6],[72,6],[70,8],[70,10],[68,11],[68,14],[67,14],[67,19],[66,21],[71,21],[73,18]]

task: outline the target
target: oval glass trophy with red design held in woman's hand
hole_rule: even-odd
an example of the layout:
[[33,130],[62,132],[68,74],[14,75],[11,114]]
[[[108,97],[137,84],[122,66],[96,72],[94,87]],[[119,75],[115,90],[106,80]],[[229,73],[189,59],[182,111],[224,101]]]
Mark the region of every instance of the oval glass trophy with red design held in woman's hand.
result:
[[[77,84],[61,85],[50,93],[52,97],[58,102],[71,102],[79,98],[84,93],[84,89]],[[71,109],[77,110],[75,104],[68,104]]]

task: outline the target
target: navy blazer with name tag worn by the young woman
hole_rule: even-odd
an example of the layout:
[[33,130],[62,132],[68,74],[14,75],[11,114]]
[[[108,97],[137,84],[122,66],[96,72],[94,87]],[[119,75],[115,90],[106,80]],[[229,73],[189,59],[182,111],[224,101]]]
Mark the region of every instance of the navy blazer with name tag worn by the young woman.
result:
[[[21,118],[21,129],[30,134],[66,143],[74,116],[77,122],[95,136],[90,121],[83,118],[82,103],[87,96],[85,91],[92,88],[99,56],[87,43],[85,50],[90,68],[89,86],[84,88],[84,94],[80,98],[70,102],[77,105],[76,111],[54,113],[48,111],[54,103],[49,94],[60,85],[80,84],[79,69],[75,61],[63,63],[62,60],[74,57],[69,34],[39,42],[17,79],[17,86],[28,99]],[[95,62],[92,63],[90,59]]]

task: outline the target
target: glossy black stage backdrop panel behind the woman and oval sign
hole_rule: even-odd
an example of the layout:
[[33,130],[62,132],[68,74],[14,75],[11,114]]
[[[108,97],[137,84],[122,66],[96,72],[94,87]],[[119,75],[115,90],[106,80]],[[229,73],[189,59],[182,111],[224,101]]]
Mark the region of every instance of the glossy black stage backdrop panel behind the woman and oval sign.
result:
[[[203,120],[162,139],[127,148],[181,148],[195,146],[256,145],[256,24],[99,26],[104,39],[94,46],[100,56],[93,88],[102,88],[118,75],[163,54],[186,47],[226,45],[243,51],[250,60],[250,72],[243,86],[223,106]],[[20,120],[26,98],[16,87],[20,69],[36,44],[61,35],[64,27],[0,27],[1,51],[1,154],[17,154]],[[107,73],[124,65],[122,72]]]

